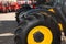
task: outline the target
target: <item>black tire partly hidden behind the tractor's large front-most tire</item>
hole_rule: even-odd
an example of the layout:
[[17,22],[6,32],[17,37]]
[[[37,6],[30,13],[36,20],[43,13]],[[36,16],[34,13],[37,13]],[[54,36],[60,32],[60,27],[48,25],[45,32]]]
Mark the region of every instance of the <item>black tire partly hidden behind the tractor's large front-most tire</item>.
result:
[[32,9],[32,8],[31,8],[29,4],[23,4],[22,8],[18,9],[18,10],[16,10],[16,13],[15,13],[15,14],[16,14],[16,15],[15,15],[16,22],[18,22],[18,23],[20,22],[20,20],[19,20],[20,13],[24,13],[24,12],[31,10],[31,9]]

